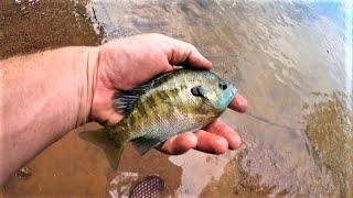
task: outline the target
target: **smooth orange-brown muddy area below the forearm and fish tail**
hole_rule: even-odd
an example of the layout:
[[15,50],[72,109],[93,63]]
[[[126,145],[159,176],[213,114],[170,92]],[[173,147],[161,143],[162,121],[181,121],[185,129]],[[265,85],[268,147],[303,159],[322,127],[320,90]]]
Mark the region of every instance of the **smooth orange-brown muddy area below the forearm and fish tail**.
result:
[[140,157],[128,146],[121,158],[125,163],[115,172],[100,148],[77,136],[79,132],[94,129],[99,127],[87,124],[50,146],[26,165],[31,176],[13,176],[2,189],[3,196],[120,197],[128,195],[129,187],[148,175],[164,179],[163,195],[175,195],[182,170],[168,160],[168,155],[152,151]]

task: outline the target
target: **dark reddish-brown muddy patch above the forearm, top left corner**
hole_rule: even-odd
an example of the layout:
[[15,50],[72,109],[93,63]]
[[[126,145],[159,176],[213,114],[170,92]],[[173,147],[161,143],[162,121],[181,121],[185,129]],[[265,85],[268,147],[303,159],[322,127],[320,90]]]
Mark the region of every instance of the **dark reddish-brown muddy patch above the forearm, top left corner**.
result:
[[2,0],[0,58],[69,45],[98,45],[86,0]]

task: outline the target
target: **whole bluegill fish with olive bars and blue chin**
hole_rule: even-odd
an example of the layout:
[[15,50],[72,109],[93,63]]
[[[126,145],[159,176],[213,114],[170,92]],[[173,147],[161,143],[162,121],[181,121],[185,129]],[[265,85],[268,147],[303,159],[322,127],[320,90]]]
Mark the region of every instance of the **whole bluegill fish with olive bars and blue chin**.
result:
[[110,163],[117,166],[130,141],[145,154],[175,134],[207,125],[225,111],[236,92],[231,81],[212,72],[185,68],[117,92],[113,103],[125,117],[116,125],[105,128],[105,134],[115,144]]

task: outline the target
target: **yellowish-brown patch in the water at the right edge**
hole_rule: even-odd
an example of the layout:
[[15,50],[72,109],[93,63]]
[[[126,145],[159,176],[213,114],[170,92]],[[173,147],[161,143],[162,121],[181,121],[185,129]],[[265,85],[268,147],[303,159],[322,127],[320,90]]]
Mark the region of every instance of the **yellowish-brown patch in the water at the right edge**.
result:
[[307,134],[311,153],[323,168],[332,170],[344,197],[353,196],[353,96],[343,92],[315,94],[308,107]]

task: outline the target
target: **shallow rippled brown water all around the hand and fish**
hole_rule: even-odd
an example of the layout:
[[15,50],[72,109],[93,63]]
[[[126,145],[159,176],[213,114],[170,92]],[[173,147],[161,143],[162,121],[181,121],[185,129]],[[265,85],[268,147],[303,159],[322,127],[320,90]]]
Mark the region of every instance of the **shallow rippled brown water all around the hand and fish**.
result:
[[[252,113],[291,129],[226,111],[222,118],[238,129],[242,150],[221,156],[152,151],[141,157],[128,146],[113,172],[103,151],[77,136],[97,128],[90,123],[39,155],[28,165],[31,176],[12,177],[3,195],[117,197],[156,174],[164,179],[163,196],[172,197],[353,196],[352,38],[344,37],[352,22],[336,3],[40,0],[23,10],[8,3],[17,10],[0,14],[28,13],[0,18],[0,44],[7,46],[0,57],[159,32],[193,43],[238,86]],[[30,18],[35,11],[47,15]],[[58,29],[40,31],[33,20]],[[47,36],[53,32],[60,38]]]

